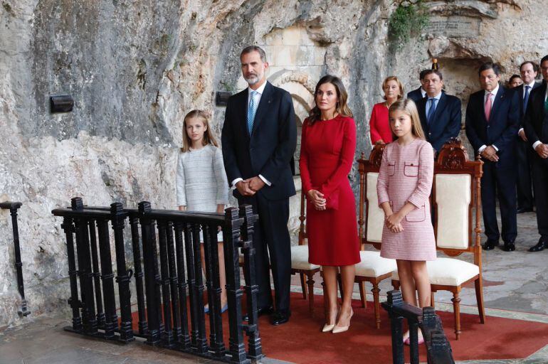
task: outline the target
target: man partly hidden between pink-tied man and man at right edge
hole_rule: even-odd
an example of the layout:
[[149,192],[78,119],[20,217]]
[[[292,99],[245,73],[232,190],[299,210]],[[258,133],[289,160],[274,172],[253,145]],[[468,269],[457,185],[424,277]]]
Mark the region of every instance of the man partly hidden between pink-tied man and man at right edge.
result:
[[527,60],[520,65],[520,74],[523,80],[523,84],[516,87],[514,90],[517,92],[517,97],[521,102],[518,102],[520,109],[520,131],[517,132],[517,213],[527,213],[533,210],[533,191],[531,183],[531,161],[530,155],[533,150],[529,143],[527,143],[527,137],[525,136],[525,130],[523,127],[522,118],[527,109],[527,100],[531,91],[539,87],[540,84],[535,82],[537,77],[538,67],[533,62]]

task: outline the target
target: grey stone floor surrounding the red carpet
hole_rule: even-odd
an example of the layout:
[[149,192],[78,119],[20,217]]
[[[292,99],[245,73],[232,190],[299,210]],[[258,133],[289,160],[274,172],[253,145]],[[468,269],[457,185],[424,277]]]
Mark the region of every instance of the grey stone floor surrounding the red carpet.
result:
[[[486,314],[527,321],[548,323],[548,250],[529,253],[527,249],[538,240],[534,213],[518,215],[519,235],[515,252],[500,249],[483,252],[484,299]],[[320,281],[320,277],[317,277]],[[300,282],[293,278],[293,290],[300,291]],[[320,284],[316,293],[321,294]],[[369,287],[370,288],[370,287]],[[381,284],[381,294],[391,289],[389,281]],[[357,287],[355,289],[357,294]],[[368,295],[372,301],[372,296]],[[436,309],[451,311],[451,295],[436,294]],[[461,311],[477,314],[475,290],[464,288]],[[382,300],[382,299],[381,299]],[[0,364],[164,364],[214,363],[172,350],[152,348],[139,343],[117,345],[96,339],[83,338],[63,331],[66,319],[39,319],[30,324],[0,331]],[[475,360],[460,363],[533,364],[548,363],[547,346],[522,360]],[[262,363],[285,363],[265,358]]]

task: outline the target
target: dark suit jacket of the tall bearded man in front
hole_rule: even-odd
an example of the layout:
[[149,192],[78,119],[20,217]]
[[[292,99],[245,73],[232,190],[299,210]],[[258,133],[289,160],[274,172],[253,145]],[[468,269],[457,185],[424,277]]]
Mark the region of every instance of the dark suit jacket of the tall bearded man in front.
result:
[[[290,160],[297,145],[297,127],[291,96],[267,82],[260,97],[251,135],[247,126],[248,89],[228,99],[221,134],[228,183],[259,174],[272,186],[258,193],[268,200],[295,195]],[[233,192],[241,197],[237,189]]]

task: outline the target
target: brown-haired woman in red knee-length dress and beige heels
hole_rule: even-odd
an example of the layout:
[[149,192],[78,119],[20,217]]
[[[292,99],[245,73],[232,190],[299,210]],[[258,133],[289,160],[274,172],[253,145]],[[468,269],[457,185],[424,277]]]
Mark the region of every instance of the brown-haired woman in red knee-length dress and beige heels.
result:
[[[348,181],[356,150],[356,124],[338,77],[317,83],[316,106],[302,125],[300,174],[307,196],[309,262],[323,266],[326,308],[322,331],[347,331],[352,317],[354,264],[359,263],[354,193]],[[337,272],[344,296],[337,309]]]

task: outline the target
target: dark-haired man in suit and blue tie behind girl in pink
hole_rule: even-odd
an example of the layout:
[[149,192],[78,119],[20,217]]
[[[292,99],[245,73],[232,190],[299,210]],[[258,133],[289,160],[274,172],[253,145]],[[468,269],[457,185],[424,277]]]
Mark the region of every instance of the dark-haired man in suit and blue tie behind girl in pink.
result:
[[423,87],[426,97],[416,102],[426,140],[440,151],[447,139],[458,137],[462,112],[460,99],[441,92],[443,76],[438,70],[427,70]]

